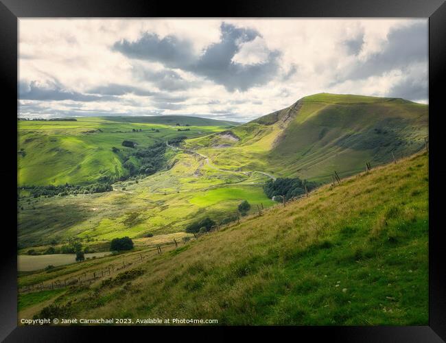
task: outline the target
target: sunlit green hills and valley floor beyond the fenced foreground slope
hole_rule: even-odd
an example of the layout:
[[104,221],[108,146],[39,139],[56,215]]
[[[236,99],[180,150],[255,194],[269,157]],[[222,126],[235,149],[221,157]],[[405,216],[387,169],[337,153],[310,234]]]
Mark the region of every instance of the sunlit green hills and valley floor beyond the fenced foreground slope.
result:
[[197,219],[233,217],[243,200],[252,204],[250,213],[257,205],[272,206],[262,189],[269,178],[327,182],[335,170],[341,177],[353,175],[366,162],[375,167],[391,161],[392,153],[401,158],[419,151],[427,134],[425,105],[326,93],[239,126],[181,120],[188,121],[189,131],[178,131],[186,123],[176,126],[177,117],[19,121],[19,185],[126,176],[124,161],[138,166],[139,160],[128,158],[135,149],[121,146],[125,139],[148,147],[178,135],[189,137],[180,146],[164,146],[169,167],[115,182],[114,191],[32,198],[30,191],[21,190],[20,248],[45,251],[50,241],[64,244],[71,237],[106,246],[115,237],[145,241],[147,235],[184,233]]

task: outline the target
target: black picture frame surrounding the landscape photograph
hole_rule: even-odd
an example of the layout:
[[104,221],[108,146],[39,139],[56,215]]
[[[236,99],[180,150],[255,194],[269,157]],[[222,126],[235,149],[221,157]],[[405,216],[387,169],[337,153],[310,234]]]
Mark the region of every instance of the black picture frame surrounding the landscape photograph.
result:
[[[277,335],[286,329],[290,337],[341,342],[444,342],[446,340],[446,239],[442,222],[442,198],[446,176],[441,167],[441,130],[445,107],[446,3],[443,0],[316,0],[316,1],[234,1],[218,3],[173,3],[168,1],[117,0],[0,0],[0,75],[3,83],[2,141],[5,163],[0,168],[3,180],[2,259],[0,263],[0,340],[5,342],[67,342],[90,340],[92,331],[117,338],[117,329],[128,338],[135,330],[152,338],[155,331],[167,335],[186,330],[195,335],[198,328],[165,327],[17,327],[16,204],[16,118],[17,111],[17,34],[23,17],[418,17],[429,18],[429,132],[430,132],[430,233],[429,325],[414,327],[259,327],[261,335]],[[7,156],[6,158],[4,156]],[[15,163],[14,163],[15,161]],[[442,182],[443,181],[443,182]],[[15,228],[14,228],[15,227]],[[8,237],[7,237],[8,236]],[[8,244],[6,244],[8,242]],[[9,244],[9,242],[11,244]],[[106,330],[104,330],[106,329]],[[201,328],[200,328],[201,329]],[[239,327],[203,328],[219,333],[239,331]],[[223,330],[224,329],[224,330]],[[139,332],[141,333],[141,332]],[[209,337],[209,336],[208,336]],[[215,337],[215,336],[214,336]],[[221,337],[221,336],[219,336]],[[275,336],[277,337],[277,336]],[[209,337],[211,338],[211,337]],[[105,338],[107,339],[107,338]]]

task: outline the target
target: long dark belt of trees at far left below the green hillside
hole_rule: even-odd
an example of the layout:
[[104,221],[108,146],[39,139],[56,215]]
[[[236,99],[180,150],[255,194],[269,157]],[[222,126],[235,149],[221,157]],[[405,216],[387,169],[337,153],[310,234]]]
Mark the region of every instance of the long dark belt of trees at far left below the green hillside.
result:
[[47,185],[47,186],[22,186],[19,189],[26,189],[30,191],[34,198],[40,196],[69,196],[72,194],[91,194],[91,193],[103,193],[106,191],[113,191],[113,187],[108,182],[95,182],[91,185]]

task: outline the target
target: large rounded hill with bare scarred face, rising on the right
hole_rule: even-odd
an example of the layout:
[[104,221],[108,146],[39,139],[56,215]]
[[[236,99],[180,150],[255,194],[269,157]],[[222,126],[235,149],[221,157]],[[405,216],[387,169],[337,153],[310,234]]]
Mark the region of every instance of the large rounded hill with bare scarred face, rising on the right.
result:
[[[427,105],[404,99],[320,93],[231,130],[187,141],[215,165],[327,181],[366,161],[381,165],[421,150]],[[232,137],[232,138],[231,138]]]

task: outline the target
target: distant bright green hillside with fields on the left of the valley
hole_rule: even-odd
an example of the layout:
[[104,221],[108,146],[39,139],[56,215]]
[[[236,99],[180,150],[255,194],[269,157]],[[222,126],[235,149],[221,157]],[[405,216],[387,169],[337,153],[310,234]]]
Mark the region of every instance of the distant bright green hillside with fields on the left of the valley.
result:
[[[148,147],[178,136],[199,137],[218,132],[229,125],[226,121],[177,117],[18,121],[19,186],[88,184],[102,176],[128,176],[129,171],[123,167],[124,158],[134,149],[123,147],[124,140]],[[176,126],[178,121],[182,126]],[[186,123],[189,130],[179,132],[178,128],[184,130]],[[119,152],[113,152],[112,147],[117,147]]]

